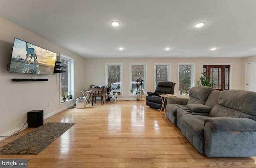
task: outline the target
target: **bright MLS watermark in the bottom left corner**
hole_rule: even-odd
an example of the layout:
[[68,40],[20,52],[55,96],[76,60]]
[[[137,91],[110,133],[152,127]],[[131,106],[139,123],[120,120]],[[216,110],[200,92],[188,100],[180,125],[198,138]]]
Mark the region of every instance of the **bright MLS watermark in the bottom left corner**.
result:
[[0,159],[0,168],[28,168],[27,159]]

